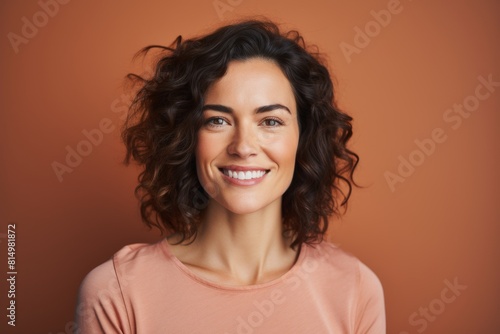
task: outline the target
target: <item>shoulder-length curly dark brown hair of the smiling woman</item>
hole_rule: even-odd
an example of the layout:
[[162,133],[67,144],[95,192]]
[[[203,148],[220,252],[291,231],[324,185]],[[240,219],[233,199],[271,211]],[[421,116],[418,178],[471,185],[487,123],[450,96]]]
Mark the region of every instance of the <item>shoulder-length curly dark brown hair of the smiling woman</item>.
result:
[[297,31],[247,20],[198,38],[178,36],[169,47],[151,45],[138,55],[152,49],[159,53],[151,77],[127,76],[139,86],[122,132],[125,163],[144,168],[135,190],[142,220],[179,234],[181,242],[194,240],[209,198],[194,153],[205,92],[231,61],[259,57],[274,61],[288,78],[299,116],[296,166],[282,198],[284,231],[293,235],[292,247],[321,241],[329,217],[347,204],[359,157],[347,148],[352,118],[337,107],[317,48],[306,46]]

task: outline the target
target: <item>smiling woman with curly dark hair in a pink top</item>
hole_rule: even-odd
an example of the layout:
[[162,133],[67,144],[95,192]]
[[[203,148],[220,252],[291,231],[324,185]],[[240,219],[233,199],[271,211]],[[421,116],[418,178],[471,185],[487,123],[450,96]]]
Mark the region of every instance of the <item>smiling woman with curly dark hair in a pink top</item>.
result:
[[168,237],[87,275],[81,333],[385,333],[379,280],[323,240],[358,157],[319,55],[262,21],[152,48],[123,138]]

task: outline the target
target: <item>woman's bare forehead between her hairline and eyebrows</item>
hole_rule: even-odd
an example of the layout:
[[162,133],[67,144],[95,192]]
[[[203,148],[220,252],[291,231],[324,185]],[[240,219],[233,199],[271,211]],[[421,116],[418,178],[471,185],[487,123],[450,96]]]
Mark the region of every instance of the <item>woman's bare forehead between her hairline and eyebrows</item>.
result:
[[262,58],[230,62],[226,74],[207,90],[205,103],[250,108],[281,103],[295,110],[287,77],[275,62]]

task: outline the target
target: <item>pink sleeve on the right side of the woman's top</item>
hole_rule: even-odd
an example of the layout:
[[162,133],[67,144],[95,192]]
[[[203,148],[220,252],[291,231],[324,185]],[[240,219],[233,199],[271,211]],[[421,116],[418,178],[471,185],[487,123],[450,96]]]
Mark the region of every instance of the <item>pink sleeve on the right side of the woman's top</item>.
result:
[[384,334],[384,291],[378,277],[359,262],[359,296],[356,308],[356,334]]

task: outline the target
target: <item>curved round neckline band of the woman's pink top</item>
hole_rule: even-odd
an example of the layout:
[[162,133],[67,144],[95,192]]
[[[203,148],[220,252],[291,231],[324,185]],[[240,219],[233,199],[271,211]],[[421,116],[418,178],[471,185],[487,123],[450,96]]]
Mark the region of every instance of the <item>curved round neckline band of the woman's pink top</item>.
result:
[[277,277],[271,281],[265,282],[265,283],[259,283],[259,284],[251,284],[251,285],[230,285],[230,284],[222,284],[222,283],[217,283],[211,280],[208,280],[204,277],[199,276],[198,274],[195,274],[191,269],[189,269],[184,263],[181,262],[171,251],[170,249],[170,244],[168,243],[167,238],[164,238],[163,241],[161,242],[161,246],[163,250],[165,251],[166,255],[168,258],[170,258],[175,266],[185,275],[187,275],[189,278],[193,279],[197,283],[200,283],[202,285],[219,289],[219,290],[225,290],[225,291],[253,291],[253,290],[259,290],[263,288],[267,288],[276,284],[279,284],[283,281],[285,281],[287,278],[292,276],[298,268],[302,265],[304,262],[304,258],[306,257],[306,253],[308,251],[307,244],[303,244],[299,254],[297,256],[297,261],[293,264],[293,266],[285,272],[283,275],[280,277]]

